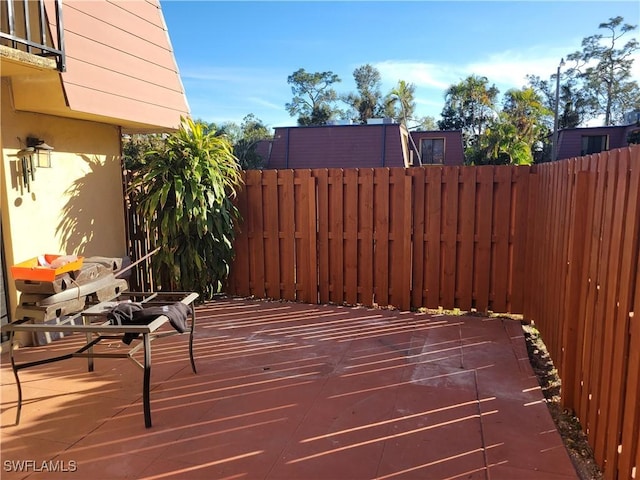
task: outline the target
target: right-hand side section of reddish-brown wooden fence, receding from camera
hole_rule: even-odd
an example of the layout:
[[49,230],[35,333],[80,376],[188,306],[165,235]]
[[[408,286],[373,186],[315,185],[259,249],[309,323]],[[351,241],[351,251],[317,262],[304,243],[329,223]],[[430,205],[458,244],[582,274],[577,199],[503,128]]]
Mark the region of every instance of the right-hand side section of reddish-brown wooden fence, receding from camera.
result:
[[605,478],[640,478],[640,146],[535,167],[524,316]]

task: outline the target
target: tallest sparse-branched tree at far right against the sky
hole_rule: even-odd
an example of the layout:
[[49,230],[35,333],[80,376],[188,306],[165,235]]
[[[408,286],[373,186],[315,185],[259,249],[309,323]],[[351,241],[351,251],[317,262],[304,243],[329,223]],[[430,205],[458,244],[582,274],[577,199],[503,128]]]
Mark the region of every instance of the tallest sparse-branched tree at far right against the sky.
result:
[[605,125],[621,123],[625,112],[638,103],[638,83],[631,80],[632,54],[640,48],[638,40],[632,38],[620,45],[622,37],[637,26],[623,24],[620,16],[610,18],[598,28],[607,34],[596,34],[582,40],[582,50],[567,59],[575,65],[568,75],[574,75],[582,83],[592,115],[604,116]]

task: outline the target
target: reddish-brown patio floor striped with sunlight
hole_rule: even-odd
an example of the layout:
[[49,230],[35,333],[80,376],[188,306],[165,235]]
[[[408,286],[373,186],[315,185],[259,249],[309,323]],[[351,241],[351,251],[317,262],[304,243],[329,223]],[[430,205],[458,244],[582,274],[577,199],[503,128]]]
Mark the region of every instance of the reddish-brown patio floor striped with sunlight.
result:
[[14,425],[4,354],[3,480],[578,478],[516,321],[236,298],[197,313],[197,374],[186,336],[154,342],[149,429],[142,372],[114,359],[22,371]]

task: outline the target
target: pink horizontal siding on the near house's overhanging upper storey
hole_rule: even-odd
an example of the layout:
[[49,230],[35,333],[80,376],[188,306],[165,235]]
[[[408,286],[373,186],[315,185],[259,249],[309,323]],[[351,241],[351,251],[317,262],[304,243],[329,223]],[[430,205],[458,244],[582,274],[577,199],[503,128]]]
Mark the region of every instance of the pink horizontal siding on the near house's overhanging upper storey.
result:
[[[55,17],[50,15],[50,19]],[[189,108],[157,0],[63,3],[71,110],[175,128]]]

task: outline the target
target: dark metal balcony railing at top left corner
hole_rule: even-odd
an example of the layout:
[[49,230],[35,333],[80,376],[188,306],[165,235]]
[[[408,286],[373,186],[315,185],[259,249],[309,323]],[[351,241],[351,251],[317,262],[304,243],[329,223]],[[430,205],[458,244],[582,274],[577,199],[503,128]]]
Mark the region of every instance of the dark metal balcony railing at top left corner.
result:
[[0,44],[26,53],[54,57],[64,72],[62,0],[55,0],[55,32],[50,31],[44,0],[0,0]]

